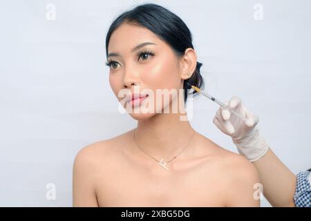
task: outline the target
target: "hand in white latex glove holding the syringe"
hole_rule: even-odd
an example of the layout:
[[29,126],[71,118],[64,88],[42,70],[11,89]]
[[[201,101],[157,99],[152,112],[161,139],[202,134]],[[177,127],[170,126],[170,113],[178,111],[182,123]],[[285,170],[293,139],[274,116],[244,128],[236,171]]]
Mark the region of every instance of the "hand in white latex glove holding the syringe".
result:
[[216,112],[213,123],[220,131],[232,137],[232,141],[238,148],[238,153],[247,157],[250,162],[259,160],[267,153],[269,146],[265,138],[259,133],[258,116],[248,111],[239,97],[234,96],[225,104],[229,104],[230,108],[246,117],[247,122],[243,122],[243,119],[234,113],[220,107]]

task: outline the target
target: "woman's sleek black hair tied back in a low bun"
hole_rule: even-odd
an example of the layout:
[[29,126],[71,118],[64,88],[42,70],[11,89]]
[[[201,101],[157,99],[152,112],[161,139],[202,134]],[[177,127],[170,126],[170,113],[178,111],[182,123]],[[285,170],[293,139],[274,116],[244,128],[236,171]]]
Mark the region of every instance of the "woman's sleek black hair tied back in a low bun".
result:
[[[108,55],[108,45],[113,31],[122,23],[131,23],[133,25],[142,26],[151,30],[160,39],[165,41],[173,52],[179,57],[185,55],[187,48],[193,48],[191,31],[186,24],[170,10],[154,3],[144,3],[136,6],[132,10],[127,10],[119,15],[107,32],[106,35],[106,56]],[[196,63],[196,70],[189,79],[184,80],[183,88],[185,90],[185,103],[187,102],[187,91],[191,89],[188,84],[194,85],[198,88],[204,88],[204,79],[200,74],[200,62]],[[187,84],[188,83],[188,84]],[[192,95],[196,95],[196,90]]]

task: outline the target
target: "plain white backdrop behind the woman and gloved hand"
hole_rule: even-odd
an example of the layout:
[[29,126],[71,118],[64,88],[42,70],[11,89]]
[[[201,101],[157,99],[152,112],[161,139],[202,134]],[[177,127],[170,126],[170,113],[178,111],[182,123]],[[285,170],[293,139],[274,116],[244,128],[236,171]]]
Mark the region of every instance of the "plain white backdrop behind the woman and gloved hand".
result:
[[[205,90],[241,97],[293,173],[311,166],[311,1],[1,0],[0,206],[72,206],[79,149],[136,126],[117,111],[105,38],[117,15],[144,2],[185,21]],[[237,153],[212,123],[217,109],[195,99],[191,125]]]

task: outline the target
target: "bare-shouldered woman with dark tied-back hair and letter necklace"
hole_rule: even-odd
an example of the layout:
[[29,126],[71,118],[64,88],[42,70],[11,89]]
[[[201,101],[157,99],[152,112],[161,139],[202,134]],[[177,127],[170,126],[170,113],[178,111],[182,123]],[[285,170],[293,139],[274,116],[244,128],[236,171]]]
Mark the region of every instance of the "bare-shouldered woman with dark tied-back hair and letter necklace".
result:
[[[77,153],[73,206],[259,206],[255,167],[182,118],[188,84],[204,86],[191,41],[185,23],[156,4],[113,21],[109,83],[120,102],[120,91],[126,95],[123,105],[138,126]],[[157,90],[182,93],[162,101]]]

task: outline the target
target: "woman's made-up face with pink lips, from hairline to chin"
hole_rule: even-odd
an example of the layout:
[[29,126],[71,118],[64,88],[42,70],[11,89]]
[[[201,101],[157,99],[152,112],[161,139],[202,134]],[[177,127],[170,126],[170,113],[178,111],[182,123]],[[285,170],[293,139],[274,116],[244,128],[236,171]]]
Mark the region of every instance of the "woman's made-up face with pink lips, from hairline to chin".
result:
[[[146,42],[151,44],[144,44]],[[140,44],[144,44],[144,46],[133,50]],[[173,100],[178,100],[178,103],[180,100],[183,102],[183,97],[176,99],[180,95],[176,97],[171,93],[169,100],[162,96],[161,104],[157,104],[157,99],[159,102],[157,90],[167,89],[170,91],[173,89],[178,92],[179,89],[182,89],[183,79],[180,59],[173,53],[169,45],[147,28],[123,23],[111,35],[108,54],[109,83],[117,99],[121,102],[124,96],[129,94],[148,94],[142,103],[138,103],[139,105],[132,106],[131,102],[123,103],[126,111],[131,110],[129,113],[133,118],[147,119],[167,108]],[[110,56],[110,54],[114,55]],[[121,91],[123,91],[122,96],[119,95]],[[140,108],[143,104],[148,103],[147,106],[149,106],[151,102],[153,103],[152,110],[149,109],[147,113],[135,113],[135,108]],[[185,104],[183,103],[183,105]]]

